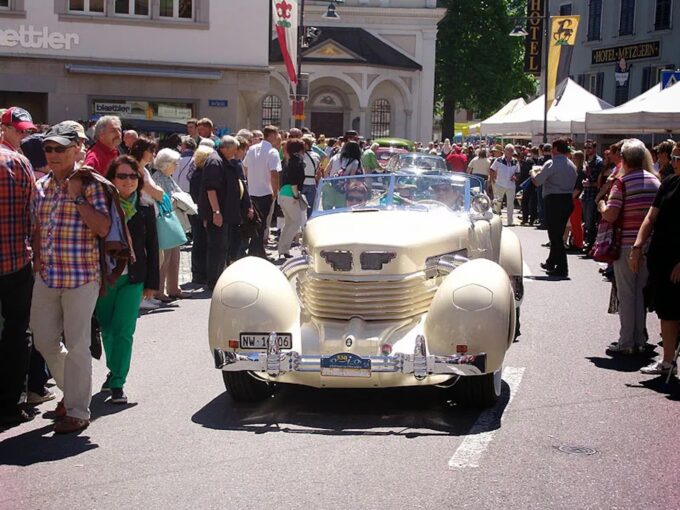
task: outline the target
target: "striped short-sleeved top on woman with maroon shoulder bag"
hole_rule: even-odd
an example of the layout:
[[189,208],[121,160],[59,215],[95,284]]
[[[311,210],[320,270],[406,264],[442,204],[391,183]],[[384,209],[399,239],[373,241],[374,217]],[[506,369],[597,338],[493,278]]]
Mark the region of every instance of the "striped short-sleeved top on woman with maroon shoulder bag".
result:
[[622,245],[632,246],[642,226],[642,221],[654,202],[659,189],[659,179],[646,170],[634,170],[623,176],[623,184],[625,197],[621,189],[621,178],[614,181],[607,207],[621,209],[623,206]]

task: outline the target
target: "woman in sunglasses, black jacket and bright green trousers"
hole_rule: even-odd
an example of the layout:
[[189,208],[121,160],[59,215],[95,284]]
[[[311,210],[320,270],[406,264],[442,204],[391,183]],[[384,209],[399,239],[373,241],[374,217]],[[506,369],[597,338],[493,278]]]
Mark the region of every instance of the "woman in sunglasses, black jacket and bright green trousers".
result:
[[123,391],[130,359],[137,314],[145,290],[158,290],[158,236],[153,207],[139,202],[144,179],[139,164],[130,156],[116,158],[106,173],[118,189],[132,239],[135,261],[128,263],[121,276],[99,298],[95,313],[102,332],[109,375],[102,391],[111,391],[110,402],[127,403]]

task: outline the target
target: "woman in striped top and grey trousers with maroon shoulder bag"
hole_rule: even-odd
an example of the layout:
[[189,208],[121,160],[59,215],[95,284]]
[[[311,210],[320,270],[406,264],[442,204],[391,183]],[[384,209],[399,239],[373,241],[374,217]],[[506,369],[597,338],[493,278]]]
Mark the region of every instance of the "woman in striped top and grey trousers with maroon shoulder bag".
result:
[[642,292],[647,284],[647,269],[633,272],[628,259],[642,248],[635,240],[659,189],[659,179],[649,171],[651,158],[640,140],[626,140],[621,147],[621,170],[612,183],[609,198],[597,204],[602,219],[615,223],[621,218],[623,229],[621,255],[614,261],[621,328],[619,339],[607,348],[608,354],[642,352],[647,342],[647,311]]

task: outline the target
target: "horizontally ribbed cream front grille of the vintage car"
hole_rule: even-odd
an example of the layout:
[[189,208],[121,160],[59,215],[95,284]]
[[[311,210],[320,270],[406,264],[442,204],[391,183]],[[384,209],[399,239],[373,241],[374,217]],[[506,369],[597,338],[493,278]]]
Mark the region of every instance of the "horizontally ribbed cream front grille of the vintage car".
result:
[[348,281],[305,272],[297,285],[302,304],[311,315],[340,320],[415,317],[429,309],[437,291],[437,279],[428,279],[423,272],[389,281]]

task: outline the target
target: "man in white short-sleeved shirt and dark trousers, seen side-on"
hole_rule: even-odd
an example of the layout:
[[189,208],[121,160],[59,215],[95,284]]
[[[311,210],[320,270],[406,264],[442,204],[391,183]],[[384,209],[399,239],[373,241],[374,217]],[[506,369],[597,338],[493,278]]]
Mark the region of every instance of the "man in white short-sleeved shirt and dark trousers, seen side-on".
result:
[[264,249],[265,232],[268,230],[273,204],[279,192],[279,172],[281,159],[276,147],[281,145],[279,128],[266,126],[263,130],[264,140],[248,149],[243,166],[248,179],[248,191],[253,205],[262,215],[262,225],[258,235],[251,238],[249,255],[266,257]]

